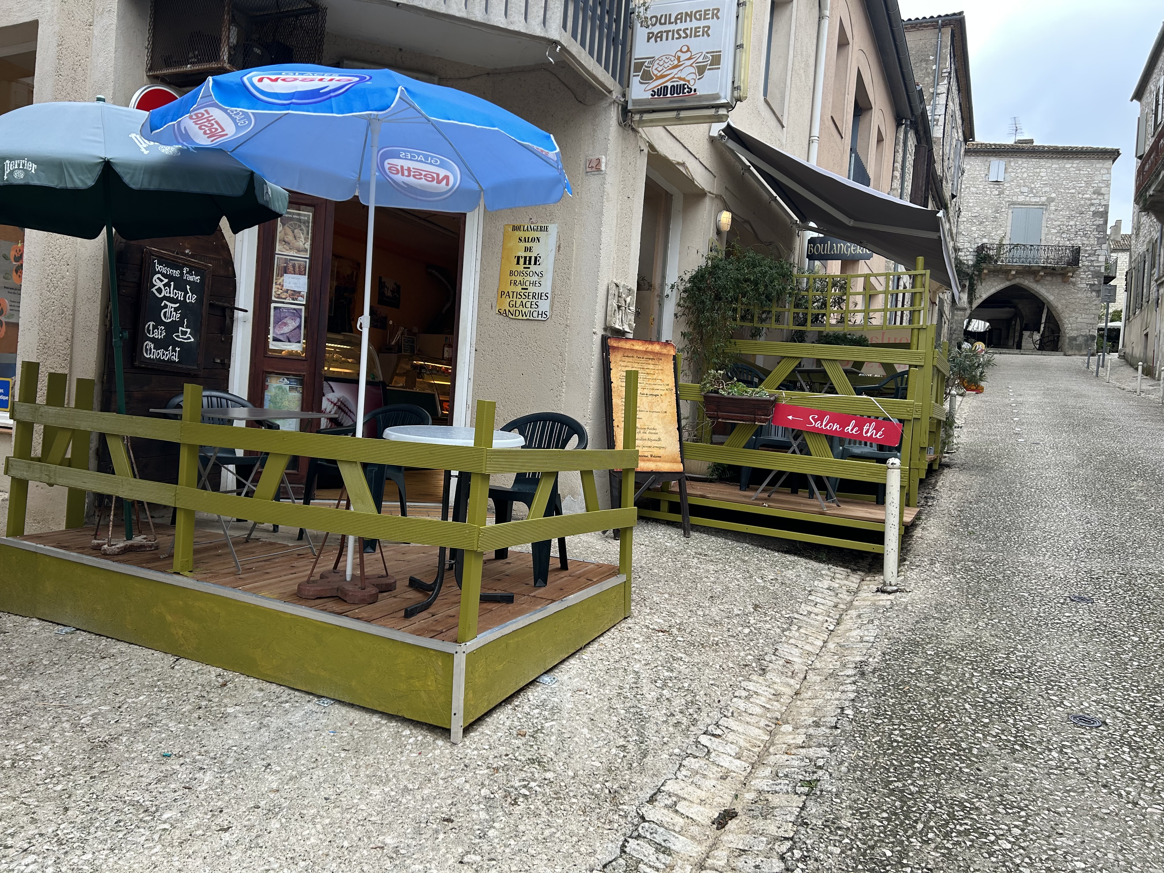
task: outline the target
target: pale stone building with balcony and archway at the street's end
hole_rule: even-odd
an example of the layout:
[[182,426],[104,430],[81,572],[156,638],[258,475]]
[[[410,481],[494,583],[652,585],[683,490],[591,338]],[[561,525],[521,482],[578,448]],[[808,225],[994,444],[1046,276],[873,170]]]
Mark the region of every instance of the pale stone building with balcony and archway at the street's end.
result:
[[[987,263],[961,318],[988,321],[988,346],[1086,354],[1102,312],[1112,164],[1119,149],[972,142],[958,249]],[[981,261],[981,258],[980,258]]]

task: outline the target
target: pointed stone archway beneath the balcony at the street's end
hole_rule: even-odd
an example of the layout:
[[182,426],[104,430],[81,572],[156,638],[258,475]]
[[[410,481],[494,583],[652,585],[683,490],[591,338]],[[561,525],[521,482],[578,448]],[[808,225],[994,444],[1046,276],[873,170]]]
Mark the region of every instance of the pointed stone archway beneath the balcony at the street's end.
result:
[[[1000,322],[992,328],[989,339],[993,343],[988,341],[987,345],[1014,349],[1021,338],[1022,348],[1031,350],[1032,340],[1037,339],[1044,350],[1086,354],[1088,348],[1094,348],[1095,325],[1103,307],[1099,296],[1086,285],[1090,274],[1081,272],[1085,275],[1048,275],[1036,281],[1021,272],[1015,275],[1012,270],[987,271],[978,284],[971,308],[961,310],[963,318],[980,318],[981,311],[992,308],[1010,310],[991,313],[993,319],[982,319]],[[980,314],[973,315],[975,312]],[[1044,340],[1042,333],[1052,319],[1052,328],[1058,327],[1058,339],[1055,347],[1049,348],[1051,342]]]

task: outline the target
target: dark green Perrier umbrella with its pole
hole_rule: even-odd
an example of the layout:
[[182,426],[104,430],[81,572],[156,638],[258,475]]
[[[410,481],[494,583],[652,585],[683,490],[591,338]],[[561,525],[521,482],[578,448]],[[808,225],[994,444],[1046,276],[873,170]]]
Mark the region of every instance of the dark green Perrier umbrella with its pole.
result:
[[[43,102],[0,115],[0,225],[95,239],[108,250],[118,412],[126,412],[113,232],[126,240],[235,233],[286,212],[288,193],[219,149],[162,146],[146,113],[95,102]],[[126,508],[126,539],[132,539]]]

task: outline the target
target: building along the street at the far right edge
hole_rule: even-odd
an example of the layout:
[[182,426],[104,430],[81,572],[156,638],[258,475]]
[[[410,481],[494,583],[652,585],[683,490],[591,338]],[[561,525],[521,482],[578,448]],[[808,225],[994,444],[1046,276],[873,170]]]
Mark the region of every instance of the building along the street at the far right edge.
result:
[[1136,180],[1124,308],[1123,356],[1147,371],[1164,372],[1161,293],[1164,291],[1164,27],[1148,54],[1131,99],[1136,120]]

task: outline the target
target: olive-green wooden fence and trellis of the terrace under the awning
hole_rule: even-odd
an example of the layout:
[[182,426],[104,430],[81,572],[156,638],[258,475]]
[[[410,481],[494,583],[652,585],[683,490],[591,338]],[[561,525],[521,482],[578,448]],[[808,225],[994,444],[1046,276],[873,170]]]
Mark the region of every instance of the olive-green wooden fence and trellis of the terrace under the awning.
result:
[[[915,270],[883,274],[803,275],[795,277],[799,291],[787,296],[769,310],[753,311],[740,307],[734,324],[753,332],[782,329],[786,334],[803,331],[839,332],[909,332],[908,342],[874,342],[873,346],[836,346],[821,342],[787,342],[769,340],[734,340],[731,350],[741,359],[765,357],[766,364],[778,359],[764,379],[766,389],[778,393],[782,403],[840,412],[870,418],[893,417],[903,423],[901,449],[902,501],[901,506],[917,505],[920,481],[930,467],[936,468],[942,453],[942,424],[945,420],[943,399],[949,375],[946,343],[936,347],[935,325],[928,318],[930,306],[929,271],[918,258]],[[900,339],[900,338],[899,338]],[[826,374],[829,388],[835,393],[781,390],[803,359],[815,359]],[[908,369],[904,399],[857,395],[842,361],[876,362],[892,374]],[[694,383],[679,385],[681,400],[696,405],[694,418],[702,423],[702,393]],[[714,443],[709,428],[700,427],[700,439],[684,441],[683,455],[689,460],[737,467],[751,467],[753,478],[760,481],[768,470],[800,473],[837,480],[867,482],[883,485],[886,468],[881,463],[833,457],[829,438],[805,432],[810,454],[797,455],[745,448],[758,425],[734,425],[726,441]],[[849,495],[852,497],[852,495]],[[677,520],[677,497],[662,492],[659,508],[647,508],[640,514]],[[885,524],[830,516],[800,513],[762,504],[693,497],[694,524],[762,533],[788,539],[843,546],[871,552],[882,552],[883,544],[875,535]],[[701,512],[707,508],[708,512]],[[748,520],[738,513],[750,513]],[[790,528],[781,519],[795,523]],[[811,525],[814,530],[807,530]],[[838,530],[839,528],[839,530]],[[850,533],[846,533],[846,530]],[[861,531],[854,535],[852,532]]]

